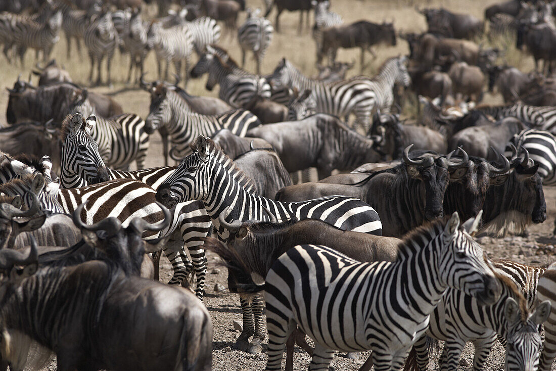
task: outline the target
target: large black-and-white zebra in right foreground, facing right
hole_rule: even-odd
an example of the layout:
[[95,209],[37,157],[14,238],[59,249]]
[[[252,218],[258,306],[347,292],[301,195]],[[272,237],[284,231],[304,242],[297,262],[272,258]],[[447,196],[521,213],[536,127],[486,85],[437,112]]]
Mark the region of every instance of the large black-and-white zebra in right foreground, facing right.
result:
[[265,290],[266,370],[280,370],[284,344],[297,325],[316,344],[311,370],[328,369],[334,350],[368,349],[375,370],[399,369],[446,289],[463,290],[484,304],[497,299],[492,265],[466,233],[478,224],[471,218],[460,229],[454,213],[420,227],[400,243],[394,263],[361,263],[315,245],[282,254],[264,284],[258,279],[244,286],[248,293]]

